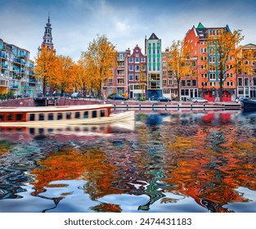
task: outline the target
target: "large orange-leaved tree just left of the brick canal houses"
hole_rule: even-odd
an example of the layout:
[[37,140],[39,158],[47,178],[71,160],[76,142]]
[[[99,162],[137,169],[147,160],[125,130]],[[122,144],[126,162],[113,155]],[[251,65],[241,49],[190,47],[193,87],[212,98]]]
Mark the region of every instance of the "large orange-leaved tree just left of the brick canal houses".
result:
[[115,46],[110,43],[106,35],[89,44],[88,51],[82,52],[80,61],[86,63],[88,75],[88,87],[92,87],[97,94],[101,95],[101,88],[106,78],[112,78],[112,70],[115,68],[117,52]]

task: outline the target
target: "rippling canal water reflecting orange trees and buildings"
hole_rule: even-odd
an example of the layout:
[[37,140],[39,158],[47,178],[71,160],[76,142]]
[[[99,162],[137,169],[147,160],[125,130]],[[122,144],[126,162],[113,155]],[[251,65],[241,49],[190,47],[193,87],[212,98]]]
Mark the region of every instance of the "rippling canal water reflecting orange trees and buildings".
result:
[[256,212],[256,113],[0,129],[0,212]]

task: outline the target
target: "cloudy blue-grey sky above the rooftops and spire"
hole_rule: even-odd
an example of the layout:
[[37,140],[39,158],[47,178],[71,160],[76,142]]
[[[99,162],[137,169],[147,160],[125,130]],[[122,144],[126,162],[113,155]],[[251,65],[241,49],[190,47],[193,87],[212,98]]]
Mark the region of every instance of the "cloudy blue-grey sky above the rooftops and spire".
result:
[[255,0],[0,0],[0,38],[36,56],[50,11],[58,55],[78,61],[97,34],[106,34],[118,51],[139,45],[155,33],[162,50],[188,29],[242,29],[242,44],[256,44]]

